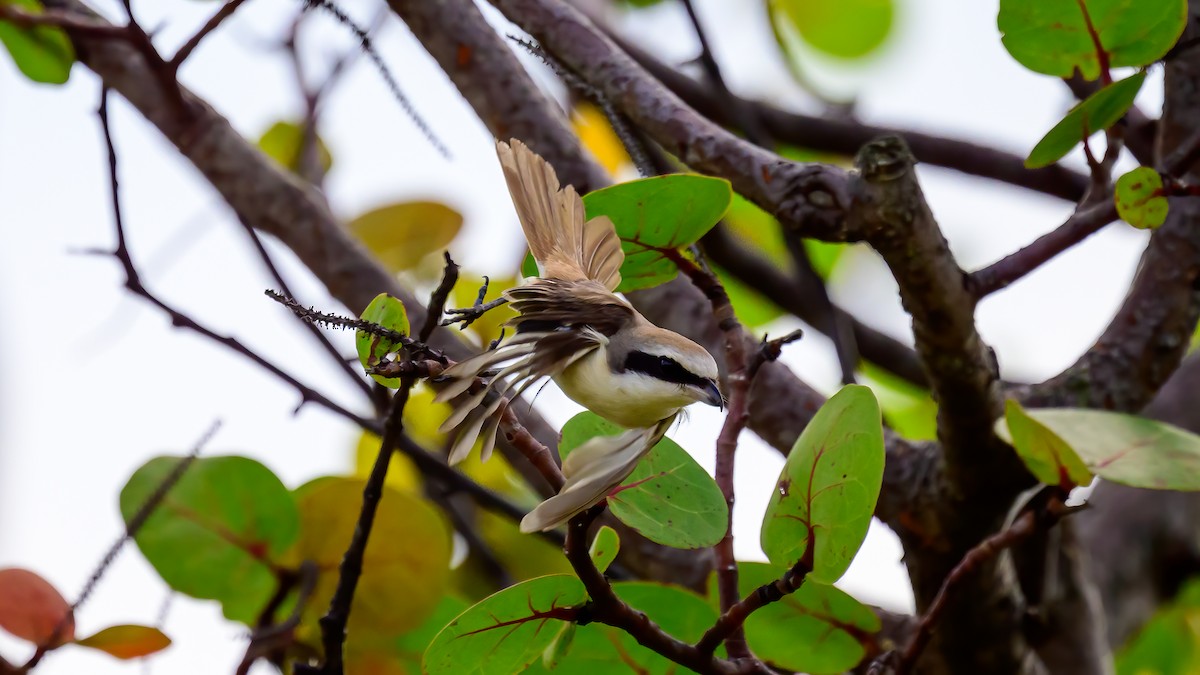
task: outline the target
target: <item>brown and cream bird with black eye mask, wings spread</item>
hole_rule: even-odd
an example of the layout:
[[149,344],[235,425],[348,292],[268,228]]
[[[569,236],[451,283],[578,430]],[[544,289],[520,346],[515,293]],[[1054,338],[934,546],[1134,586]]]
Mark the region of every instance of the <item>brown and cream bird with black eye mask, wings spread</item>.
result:
[[593,437],[566,456],[562,489],[521,522],[523,532],[534,532],[604,500],[684,407],[724,407],[724,398],[704,347],[650,323],[614,293],[625,255],[612,221],[586,220],[575,187],[560,187],[550,162],[524,143],[498,141],[496,150],[539,276],[503,294],[517,312],[508,322],[514,335],[443,372],[436,400],[451,401],[451,413],[442,431],[457,434],[449,462],[466,459],[476,440],[486,461],[509,401],[547,377],[626,429]]

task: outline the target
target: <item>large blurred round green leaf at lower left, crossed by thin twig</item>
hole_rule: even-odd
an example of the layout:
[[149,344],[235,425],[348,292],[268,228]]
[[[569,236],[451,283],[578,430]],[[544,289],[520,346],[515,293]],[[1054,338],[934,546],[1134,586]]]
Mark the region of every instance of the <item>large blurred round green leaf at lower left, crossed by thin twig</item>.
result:
[[[155,458],[133,473],[121,490],[126,521],[180,461]],[[168,586],[252,626],[275,592],[271,566],[299,532],[292,494],[269,468],[215,456],[193,462],[133,540]]]

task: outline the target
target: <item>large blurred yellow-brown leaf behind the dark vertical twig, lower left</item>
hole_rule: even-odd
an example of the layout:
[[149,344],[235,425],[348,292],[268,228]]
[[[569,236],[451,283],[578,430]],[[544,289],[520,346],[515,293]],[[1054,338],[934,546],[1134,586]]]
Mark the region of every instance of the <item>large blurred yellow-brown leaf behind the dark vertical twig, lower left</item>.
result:
[[[304,611],[310,627],[334,596],[365,485],[358,478],[329,477],[295,491],[302,533],[288,558],[294,565],[311,560],[320,569]],[[420,497],[384,488],[350,608],[349,640],[392,639],[420,626],[445,595],[449,575],[450,530],[442,514]]]

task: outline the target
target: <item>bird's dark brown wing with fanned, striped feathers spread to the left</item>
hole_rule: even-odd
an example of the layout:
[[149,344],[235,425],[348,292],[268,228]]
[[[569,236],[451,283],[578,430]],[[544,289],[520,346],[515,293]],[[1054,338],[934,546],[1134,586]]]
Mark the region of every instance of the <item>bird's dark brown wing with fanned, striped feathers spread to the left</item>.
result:
[[518,312],[509,322],[516,335],[446,369],[450,382],[436,398],[454,406],[442,424],[443,432],[456,431],[450,464],[466,459],[476,438],[487,460],[510,399],[606,345],[635,316],[629,304],[594,281],[539,279],[505,297]]

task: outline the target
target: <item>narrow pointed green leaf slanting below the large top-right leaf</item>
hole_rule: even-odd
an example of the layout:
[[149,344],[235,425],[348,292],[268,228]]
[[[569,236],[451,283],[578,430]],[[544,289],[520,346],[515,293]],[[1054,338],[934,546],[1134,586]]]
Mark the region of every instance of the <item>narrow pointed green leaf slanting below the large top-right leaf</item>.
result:
[[1133,106],[1133,100],[1145,80],[1146,73],[1133,74],[1109,84],[1078,103],[1042,137],[1042,141],[1038,141],[1025,160],[1025,166],[1028,168],[1050,166],[1085,138],[1116,124]]

